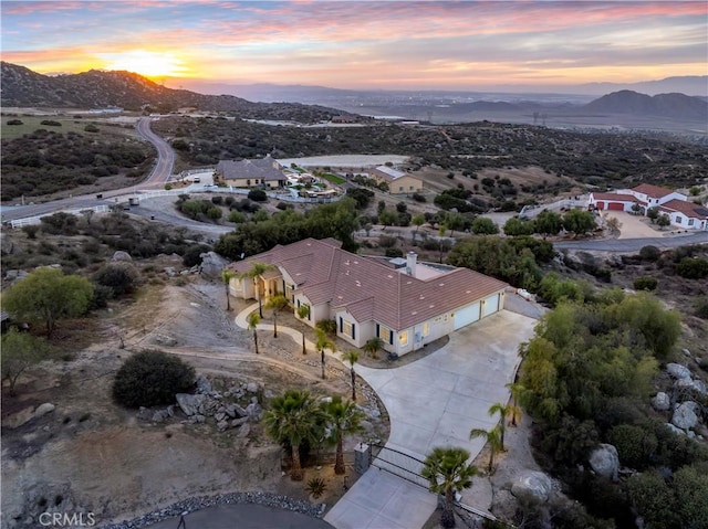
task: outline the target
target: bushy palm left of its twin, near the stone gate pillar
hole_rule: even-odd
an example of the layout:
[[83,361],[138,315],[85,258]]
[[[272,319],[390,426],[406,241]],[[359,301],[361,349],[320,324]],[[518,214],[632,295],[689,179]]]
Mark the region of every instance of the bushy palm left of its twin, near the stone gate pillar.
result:
[[288,390],[270,401],[270,410],[263,415],[266,429],[279,443],[288,443],[292,451],[290,478],[300,482],[303,478],[300,464],[300,445],[319,438],[317,425],[322,411],[309,391]]

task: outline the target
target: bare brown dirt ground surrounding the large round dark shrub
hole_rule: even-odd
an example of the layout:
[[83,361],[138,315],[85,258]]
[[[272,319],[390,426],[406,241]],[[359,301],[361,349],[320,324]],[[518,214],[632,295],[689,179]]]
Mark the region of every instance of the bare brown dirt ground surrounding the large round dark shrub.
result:
[[[314,355],[302,357],[300,345],[284,335],[261,332],[257,357],[249,349],[251,335],[232,324],[236,311],[223,310],[223,286],[199,277],[186,283],[145,286],[135,303],[93,322],[95,345],[71,359],[42,362],[21,379],[19,396],[3,399],[3,528],[34,528],[29,517],[50,509],[93,511],[100,523],[118,521],[205,494],[260,490],[308,499],[304,483],[283,477],[280,447],[261,424],[240,438],[237,430],[220,433],[209,422],[187,424],[179,411],[162,424],[138,421],[135,411],[112,401],[115,371],[132,351],[145,348],[181,355],[217,388],[258,382],[266,394],[299,387],[351,395],[347,370],[331,362],[327,380],[320,380]],[[287,325],[283,317],[279,321]],[[378,409],[371,392],[361,390],[358,404]],[[33,417],[45,402],[55,410]],[[387,437],[381,411],[381,417],[367,417],[368,431],[347,440],[345,451],[364,436]],[[305,477],[327,480],[320,498],[327,505],[343,491],[330,452],[311,462]],[[353,479],[351,468],[347,474]]]

